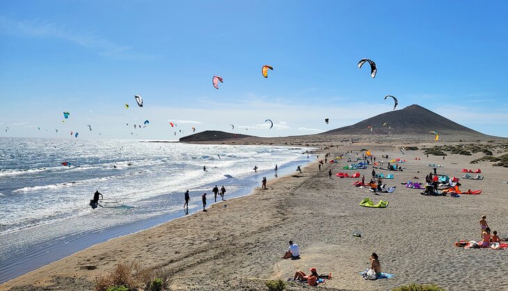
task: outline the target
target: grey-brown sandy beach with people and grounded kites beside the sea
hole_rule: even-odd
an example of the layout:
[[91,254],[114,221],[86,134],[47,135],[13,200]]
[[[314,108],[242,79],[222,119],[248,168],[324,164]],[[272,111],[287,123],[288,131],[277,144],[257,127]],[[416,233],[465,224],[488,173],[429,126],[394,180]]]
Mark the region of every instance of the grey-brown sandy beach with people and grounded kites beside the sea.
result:
[[[367,146],[354,144],[326,152],[335,157],[338,152],[360,148]],[[132,261],[145,267],[167,267],[173,274],[172,290],[262,290],[262,283],[248,283],[249,279],[286,280],[296,270],[310,267],[320,274],[333,274],[333,280],[324,285],[331,290],[390,290],[413,282],[436,283],[448,290],[508,290],[508,251],[453,245],[457,239],[479,239],[478,221],[483,214],[492,230],[507,236],[508,197],[503,182],[508,168],[488,162],[469,164],[481,155],[451,155],[443,161],[441,157],[424,157],[421,151],[406,151],[402,156],[398,148],[388,145],[368,148],[378,160],[381,155],[408,160],[402,164],[404,172],[391,172],[395,179],[385,180],[388,186],[397,186],[394,193],[376,196],[352,186],[356,179],[336,178],[335,173],[348,164],[347,157],[338,164],[326,164],[321,172],[317,162],[312,162],[302,174],[272,180],[267,190],[257,188],[251,196],[212,205],[208,212],[92,246],[8,281],[0,290],[47,285],[54,276],[93,281],[119,262]],[[324,157],[323,152],[319,155]],[[415,176],[424,181],[431,171],[427,164],[444,164],[438,173],[450,178],[460,178],[461,168],[481,168],[484,180],[460,182],[463,190],[482,189],[483,193],[460,198],[422,196],[419,190],[400,184]],[[327,174],[330,168],[332,180]],[[371,171],[369,166],[359,172],[368,180]],[[360,207],[358,203],[365,197],[374,203],[388,200],[390,205],[386,209]],[[363,237],[353,237],[355,230]],[[301,260],[280,259],[289,239],[301,247]],[[379,254],[383,272],[395,277],[361,278],[358,272],[368,266],[373,251]],[[58,279],[54,284],[80,289],[71,282]]]

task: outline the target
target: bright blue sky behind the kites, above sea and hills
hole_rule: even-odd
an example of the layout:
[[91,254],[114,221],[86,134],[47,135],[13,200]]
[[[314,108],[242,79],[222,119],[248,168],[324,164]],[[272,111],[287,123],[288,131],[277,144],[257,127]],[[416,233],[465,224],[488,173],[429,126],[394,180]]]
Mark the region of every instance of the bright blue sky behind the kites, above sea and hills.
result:
[[1,1],[0,137],[315,134],[392,110],[385,95],[508,136],[506,13],[506,1]]

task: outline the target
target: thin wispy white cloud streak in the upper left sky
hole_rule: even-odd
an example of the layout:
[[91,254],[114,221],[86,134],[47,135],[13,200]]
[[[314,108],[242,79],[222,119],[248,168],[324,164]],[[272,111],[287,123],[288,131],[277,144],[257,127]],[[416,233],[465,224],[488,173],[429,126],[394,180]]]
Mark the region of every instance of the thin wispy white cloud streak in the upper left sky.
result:
[[37,20],[17,21],[0,16],[0,33],[21,37],[58,38],[67,40],[86,49],[97,51],[100,56],[113,56],[132,59],[156,59],[151,56],[134,52],[133,47],[118,45],[105,38],[95,36],[91,31],[75,31],[54,22]]

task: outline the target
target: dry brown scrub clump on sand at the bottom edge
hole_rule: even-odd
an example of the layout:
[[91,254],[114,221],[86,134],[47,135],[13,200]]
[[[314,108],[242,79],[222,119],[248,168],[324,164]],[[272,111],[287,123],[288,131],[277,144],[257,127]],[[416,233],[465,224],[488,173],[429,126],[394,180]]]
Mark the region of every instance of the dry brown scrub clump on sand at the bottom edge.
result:
[[95,291],[166,290],[166,269],[143,269],[138,262],[118,264],[113,271],[95,278]]

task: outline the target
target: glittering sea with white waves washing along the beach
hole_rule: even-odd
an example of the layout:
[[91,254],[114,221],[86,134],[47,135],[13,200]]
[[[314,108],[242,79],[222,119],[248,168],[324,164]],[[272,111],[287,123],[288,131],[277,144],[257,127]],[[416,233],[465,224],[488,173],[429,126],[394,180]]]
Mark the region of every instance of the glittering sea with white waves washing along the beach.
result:
[[[305,148],[134,140],[0,139],[0,282],[112,237],[246,195],[307,162]],[[61,163],[70,163],[63,166]],[[207,171],[203,171],[206,166]],[[253,171],[257,166],[257,173]],[[102,206],[88,203],[98,190]],[[222,203],[222,202],[221,202]]]

